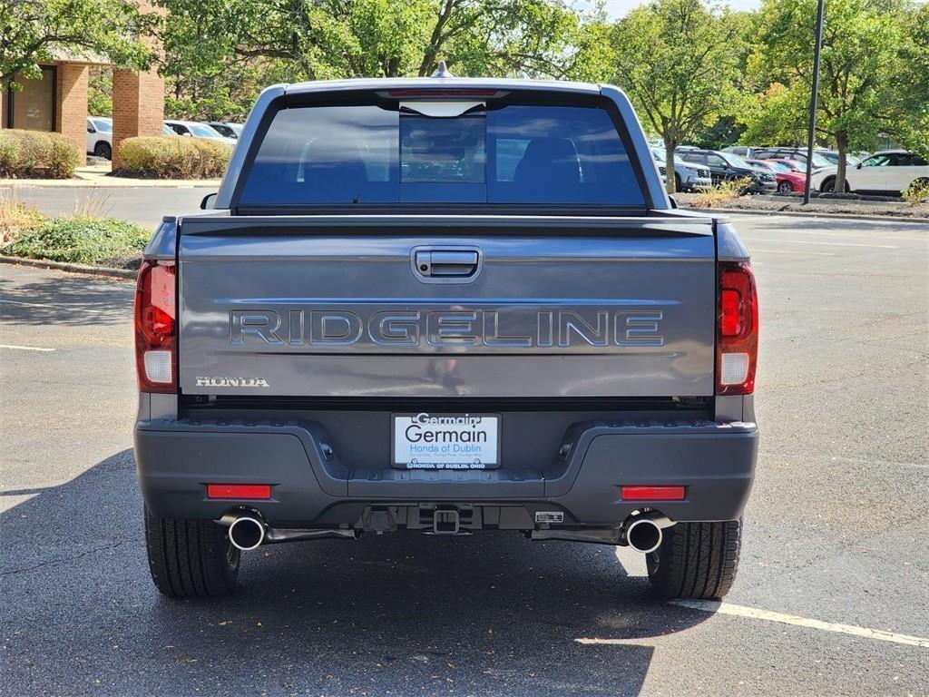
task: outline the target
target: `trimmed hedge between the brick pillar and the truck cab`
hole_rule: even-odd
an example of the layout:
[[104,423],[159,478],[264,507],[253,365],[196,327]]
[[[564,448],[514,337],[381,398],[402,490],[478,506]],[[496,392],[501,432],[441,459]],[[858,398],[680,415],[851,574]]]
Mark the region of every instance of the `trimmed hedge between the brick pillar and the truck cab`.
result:
[[159,179],[220,177],[231,154],[225,143],[177,136],[126,138],[119,146],[125,173]]

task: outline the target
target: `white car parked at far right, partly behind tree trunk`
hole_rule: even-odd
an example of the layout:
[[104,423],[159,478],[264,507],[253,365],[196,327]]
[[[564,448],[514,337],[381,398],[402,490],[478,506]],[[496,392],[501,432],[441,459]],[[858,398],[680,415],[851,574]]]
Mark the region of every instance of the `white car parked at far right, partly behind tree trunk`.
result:
[[[825,167],[813,175],[811,186],[818,191],[835,191],[836,167]],[[914,181],[929,182],[929,163],[915,152],[885,150],[845,170],[845,191],[898,196]]]

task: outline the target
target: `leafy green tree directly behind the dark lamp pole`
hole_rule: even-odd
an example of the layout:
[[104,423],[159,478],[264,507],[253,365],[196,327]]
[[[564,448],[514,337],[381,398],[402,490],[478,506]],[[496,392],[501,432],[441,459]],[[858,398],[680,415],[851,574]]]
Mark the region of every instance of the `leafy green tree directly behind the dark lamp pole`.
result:
[[[765,0],[757,15],[749,73],[756,84],[787,85],[767,99],[749,123],[796,133],[808,109],[817,0]],[[845,182],[845,153],[870,148],[886,125],[883,90],[896,72],[904,39],[906,0],[829,0],[819,73],[817,134],[839,151],[836,189]]]

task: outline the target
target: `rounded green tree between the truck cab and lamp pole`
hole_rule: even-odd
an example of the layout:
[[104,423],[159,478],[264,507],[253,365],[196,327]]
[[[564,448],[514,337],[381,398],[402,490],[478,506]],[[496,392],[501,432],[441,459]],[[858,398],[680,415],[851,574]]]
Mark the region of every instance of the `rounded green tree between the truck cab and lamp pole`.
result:
[[[640,116],[674,150],[739,104],[744,16],[700,0],[655,0],[614,28],[614,80]],[[674,178],[667,178],[674,192]]]

